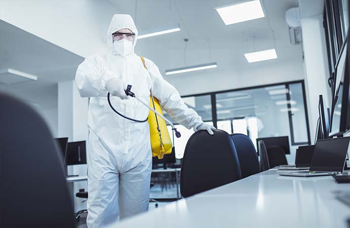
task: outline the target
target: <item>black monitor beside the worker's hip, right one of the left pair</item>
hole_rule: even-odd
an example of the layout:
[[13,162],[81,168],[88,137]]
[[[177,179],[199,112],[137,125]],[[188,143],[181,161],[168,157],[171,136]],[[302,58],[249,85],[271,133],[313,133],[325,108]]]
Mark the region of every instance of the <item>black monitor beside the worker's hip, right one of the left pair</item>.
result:
[[67,165],[86,164],[86,141],[68,142]]

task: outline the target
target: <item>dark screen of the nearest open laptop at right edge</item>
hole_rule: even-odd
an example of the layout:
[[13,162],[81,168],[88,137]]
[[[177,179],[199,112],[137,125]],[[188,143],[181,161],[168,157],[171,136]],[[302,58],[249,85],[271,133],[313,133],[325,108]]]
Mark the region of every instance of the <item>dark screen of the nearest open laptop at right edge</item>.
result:
[[350,137],[318,140],[313,151],[310,171],[342,172]]

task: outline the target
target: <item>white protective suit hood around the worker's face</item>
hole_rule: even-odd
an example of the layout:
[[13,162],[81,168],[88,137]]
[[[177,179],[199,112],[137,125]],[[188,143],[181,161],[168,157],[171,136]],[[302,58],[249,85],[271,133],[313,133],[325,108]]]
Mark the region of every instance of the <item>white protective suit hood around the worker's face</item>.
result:
[[107,32],[107,46],[111,50],[112,54],[114,55],[116,55],[117,53],[113,48],[112,33],[122,28],[130,29],[132,32],[135,33],[135,40],[133,42],[133,46],[135,47],[136,45],[138,31],[132,17],[128,14],[115,14],[111,20],[111,23]]

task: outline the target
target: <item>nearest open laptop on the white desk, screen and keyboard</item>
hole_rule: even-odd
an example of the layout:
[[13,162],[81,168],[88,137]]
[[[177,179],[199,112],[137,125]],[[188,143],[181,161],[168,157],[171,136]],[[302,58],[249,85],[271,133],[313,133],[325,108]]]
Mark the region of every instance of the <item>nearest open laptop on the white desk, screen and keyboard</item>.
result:
[[318,140],[313,151],[308,171],[278,173],[281,176],[327,176],[340,174],[344,170],[350,137]]

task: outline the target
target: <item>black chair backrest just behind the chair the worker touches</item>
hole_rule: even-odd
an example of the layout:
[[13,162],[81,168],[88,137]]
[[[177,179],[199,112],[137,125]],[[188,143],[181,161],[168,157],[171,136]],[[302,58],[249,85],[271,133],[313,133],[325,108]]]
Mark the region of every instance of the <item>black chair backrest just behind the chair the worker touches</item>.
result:
[[259,173],[258,154],[252,140],[243,134],[232,134],[231,138],[236,147],[242,178]]

